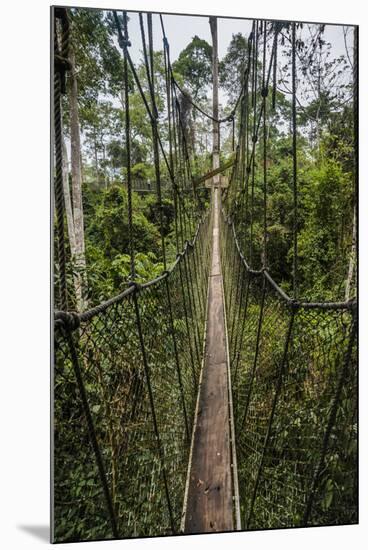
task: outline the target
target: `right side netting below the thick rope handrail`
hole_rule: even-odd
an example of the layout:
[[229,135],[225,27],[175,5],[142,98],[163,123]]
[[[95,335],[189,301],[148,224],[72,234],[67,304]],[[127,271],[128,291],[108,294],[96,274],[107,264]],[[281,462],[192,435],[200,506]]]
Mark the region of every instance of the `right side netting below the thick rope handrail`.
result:
[[353,523],[354,304],[285,299],[222,235],[242,526]]

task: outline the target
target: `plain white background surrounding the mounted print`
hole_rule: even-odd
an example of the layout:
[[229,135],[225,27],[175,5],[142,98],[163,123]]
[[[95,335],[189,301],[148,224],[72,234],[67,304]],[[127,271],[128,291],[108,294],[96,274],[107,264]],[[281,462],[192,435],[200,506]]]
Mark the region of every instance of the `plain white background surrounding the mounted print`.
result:
[[[87,548],[366,548],[367,67],[364,2],[98,0],[78,5],[360,24],[359,526],[88,543]],[[72,2],[65,1],[65,4]],[[0,19],[0,546],[41,548],[49,522],[49,3],[10,2]],[[67,548],[77,548],[68,545]],[[78,544],[81,548],[81,544]]]

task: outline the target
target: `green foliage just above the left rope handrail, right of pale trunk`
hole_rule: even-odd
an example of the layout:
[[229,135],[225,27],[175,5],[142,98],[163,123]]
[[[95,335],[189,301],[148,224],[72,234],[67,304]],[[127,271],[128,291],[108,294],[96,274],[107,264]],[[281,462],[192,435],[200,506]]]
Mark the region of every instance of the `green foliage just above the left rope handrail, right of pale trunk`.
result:
[[[98,303],[124,288],[131,277],[128,195],[121,184],[85,194],[86,260],[90,300]],[[146,281],[162,272],[157,201],[133,193],[133,239],[137,279]],[[172,204],[164,201],[165,228],[173,220]],[[155,225],[157,223],[157,225]]]

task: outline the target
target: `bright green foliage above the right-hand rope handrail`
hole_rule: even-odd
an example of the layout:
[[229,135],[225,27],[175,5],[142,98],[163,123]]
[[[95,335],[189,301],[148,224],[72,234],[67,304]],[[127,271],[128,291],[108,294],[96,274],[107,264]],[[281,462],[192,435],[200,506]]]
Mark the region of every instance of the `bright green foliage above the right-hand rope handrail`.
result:
[[[318,160],[302,136],[297,140],[297,244],[299,295],[309,300],[344,299],[354,205],[350,136],[324,131]],[[261,163],[261,151],[256,155]],[[293,161],[291,138],[275,134],[267,166],[267,264],[276,281],[290,291],[293,270]],[[251,182],[249,183],[251,186]],[[251,190],[249,189],[249,209]],[[240,228],[242,226],[240,225]],[[250,234],[243,234],[249,254]],[[263,181],[256,173],[253,259],[260,265],[263,247]]]

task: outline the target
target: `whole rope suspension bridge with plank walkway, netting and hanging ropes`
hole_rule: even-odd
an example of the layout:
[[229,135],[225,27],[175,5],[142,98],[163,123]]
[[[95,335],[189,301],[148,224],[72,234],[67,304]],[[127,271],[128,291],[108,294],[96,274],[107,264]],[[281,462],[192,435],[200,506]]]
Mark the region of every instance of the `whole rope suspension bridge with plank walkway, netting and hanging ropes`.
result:
[[[215,132],[226,124],[233,131],[232,158],[194,175],[180,111],[184,92],[172,70],[163,18],[167,144],[156,106],[152,16],[147,14],[145,25],[139,14],[147,90],[129,53],[127,14],[113,15],[124,58],[131,282],[121,294],[76,313],[69,308],[62,182],[61,99],[69,70],[69,22],[64,9],[55,10],[60,309],[53,376],[54,538],[354,523],[356,301],[310,302],[298,293],[295,23],[290,24],[294,258],[289,296],[268,269],[266,215],[268,96],[282,24],[253,22],[241,93],[229,116],[219,119],[192,102],[212,120]],[[161,231],[164,272],[143,284],[135,277],[129,73],[151,121],[158,202],[165,170],[175,207],[176,259],[168,262]],[[356,82],[354,106],[356,120]],[[257,148],[261,162],[256,162]],[[357,178],[357,157],[355,163]],[[257,171],[263,190],[258,248]],[[225,173],[229,181],[222,187]],[[206,180],[211,187],[203,188]],[[81,487],[82,473],[87,481]],[[58,527],[65,511],[70,525]],[[83,519],[76,525],[74,517]]]

